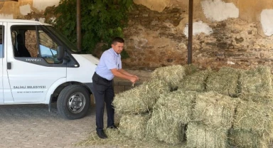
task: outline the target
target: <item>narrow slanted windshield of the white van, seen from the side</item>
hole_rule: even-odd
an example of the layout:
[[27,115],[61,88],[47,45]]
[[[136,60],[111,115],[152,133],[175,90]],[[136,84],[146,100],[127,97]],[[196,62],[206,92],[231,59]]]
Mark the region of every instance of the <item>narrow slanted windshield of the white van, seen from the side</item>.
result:
[[78,53],[79,51],[77,50],[76,46],[71,43],[68,38],[66,38],[65,36],[63,36],[62,33],[60,33],[60,31],[58,31],[56,28],[54,28],[53,26],[44,26],[45,28],[47,28],[50,32],[54,33],[55,36],[58,37],[58,39],[60,39],[60,41],[62,41],[63,43],[65,43],[66,46],[68,46],[68,50],[72,51],[73,53]]

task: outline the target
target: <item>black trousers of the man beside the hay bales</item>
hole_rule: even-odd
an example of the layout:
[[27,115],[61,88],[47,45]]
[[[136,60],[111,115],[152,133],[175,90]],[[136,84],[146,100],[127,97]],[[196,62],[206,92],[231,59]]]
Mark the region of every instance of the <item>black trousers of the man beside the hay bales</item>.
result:
[[114,107],[112,102],[114,99],[113,81],[100,77],[95,73],[92,77],[96,103],[96,125],[97,131],[103,129],[103,115],[106,107],[107,111],[107,127],[114,125]]

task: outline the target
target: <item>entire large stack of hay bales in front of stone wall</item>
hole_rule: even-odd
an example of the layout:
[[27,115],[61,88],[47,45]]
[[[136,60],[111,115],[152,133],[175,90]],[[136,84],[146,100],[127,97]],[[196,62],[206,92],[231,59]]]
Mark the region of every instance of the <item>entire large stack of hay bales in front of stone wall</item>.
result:
[[[157,68],[151,80],[119,93],[119,131],[187,147],[268,147],[273,138],[272,75],[255,70]],[[185,137],[186,135],[186,137]]]

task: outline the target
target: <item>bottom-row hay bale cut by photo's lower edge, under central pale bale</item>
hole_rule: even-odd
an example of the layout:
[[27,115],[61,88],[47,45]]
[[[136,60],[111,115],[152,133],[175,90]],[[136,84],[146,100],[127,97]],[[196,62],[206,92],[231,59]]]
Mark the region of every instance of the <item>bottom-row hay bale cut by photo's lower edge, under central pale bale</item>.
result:
[[227,129],[213,129],[206,125],[189,123],[186,135],[187,147],[225,148],[228,145]]

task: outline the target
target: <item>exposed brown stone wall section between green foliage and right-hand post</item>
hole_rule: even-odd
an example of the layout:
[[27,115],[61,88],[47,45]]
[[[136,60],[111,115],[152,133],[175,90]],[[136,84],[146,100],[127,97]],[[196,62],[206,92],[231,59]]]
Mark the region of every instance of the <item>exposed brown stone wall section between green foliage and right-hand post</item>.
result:
[[124,30],[130,58],[124,65],[155,68],[186,60],[186,36],[175,27],[183,19],[182,9],[164,9],[161,13],[135,5],[129,14],[129,27]]

